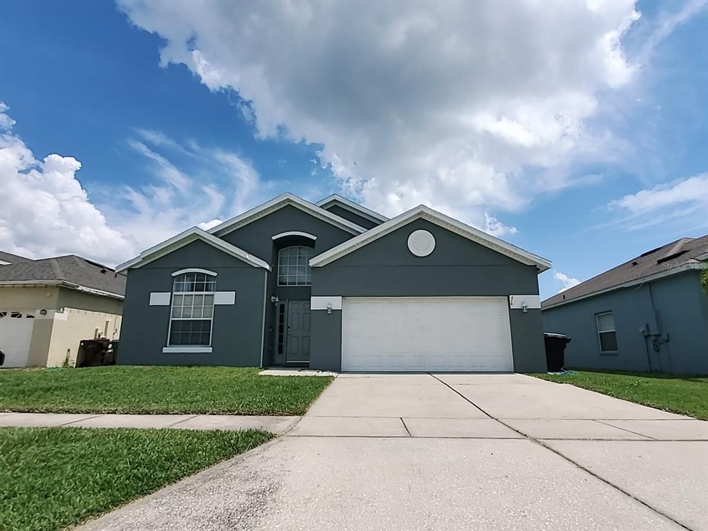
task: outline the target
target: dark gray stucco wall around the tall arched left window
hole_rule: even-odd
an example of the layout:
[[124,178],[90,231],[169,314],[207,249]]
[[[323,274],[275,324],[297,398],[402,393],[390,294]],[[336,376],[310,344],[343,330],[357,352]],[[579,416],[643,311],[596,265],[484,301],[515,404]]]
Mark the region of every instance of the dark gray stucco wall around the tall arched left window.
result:
[[[236,302],[217,305],[212,323],[212,353],[163,353],[169,306],[150,306],[150,292],[171,292],[171,273],[203,268],[217,273],[217,291],[235,291]],[[202,241],[128,271],[122,323],[120,365],[231,365],[261,363],[263,290],[268,271],[234,258]]]

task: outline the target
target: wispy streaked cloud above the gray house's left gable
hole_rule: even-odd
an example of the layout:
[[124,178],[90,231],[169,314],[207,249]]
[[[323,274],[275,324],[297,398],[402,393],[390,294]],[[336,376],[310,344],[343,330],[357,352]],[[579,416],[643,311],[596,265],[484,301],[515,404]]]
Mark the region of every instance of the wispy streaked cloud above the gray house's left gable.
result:
[[[139,249],[188,227],[215,227],[267,199],[263,194],[270,183],[238,154],[197,142],[181,144],[159,131],[136,132],[139,139],[128,139],[127,145],[142,156],[152,178],[103,189],[98,199],[108,219],[132,234]],[[179,168],[172,159],[181,160]]]

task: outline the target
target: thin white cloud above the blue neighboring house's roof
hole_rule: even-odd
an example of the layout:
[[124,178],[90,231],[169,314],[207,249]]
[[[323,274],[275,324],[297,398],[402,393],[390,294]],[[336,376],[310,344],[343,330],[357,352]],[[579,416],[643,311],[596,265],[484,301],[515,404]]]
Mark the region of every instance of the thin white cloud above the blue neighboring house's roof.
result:
[[708,227],[708,173],[676,179],[611,201],[607,208],[621,216],[613,224],[638,230],[669,222]]

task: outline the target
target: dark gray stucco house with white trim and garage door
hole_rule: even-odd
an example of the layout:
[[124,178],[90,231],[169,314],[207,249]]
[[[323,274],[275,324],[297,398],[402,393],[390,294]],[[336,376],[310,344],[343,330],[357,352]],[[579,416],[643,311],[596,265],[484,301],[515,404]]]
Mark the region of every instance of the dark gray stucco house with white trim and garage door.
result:
[[549,261],[419,206],[280,195],[122,265],[118,362],[544,371]]

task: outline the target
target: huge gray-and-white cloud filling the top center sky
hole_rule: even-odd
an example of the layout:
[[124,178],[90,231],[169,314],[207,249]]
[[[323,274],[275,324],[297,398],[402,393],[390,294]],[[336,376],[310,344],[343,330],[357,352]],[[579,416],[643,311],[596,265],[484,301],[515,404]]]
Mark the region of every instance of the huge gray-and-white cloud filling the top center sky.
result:
[[527,169],[614,156],[588,120],[635,72],[631,0],[119,4],[165,39],[162,64],[238,91],[257,135],[323,144],[343,192],[482,228],[568,181]]

